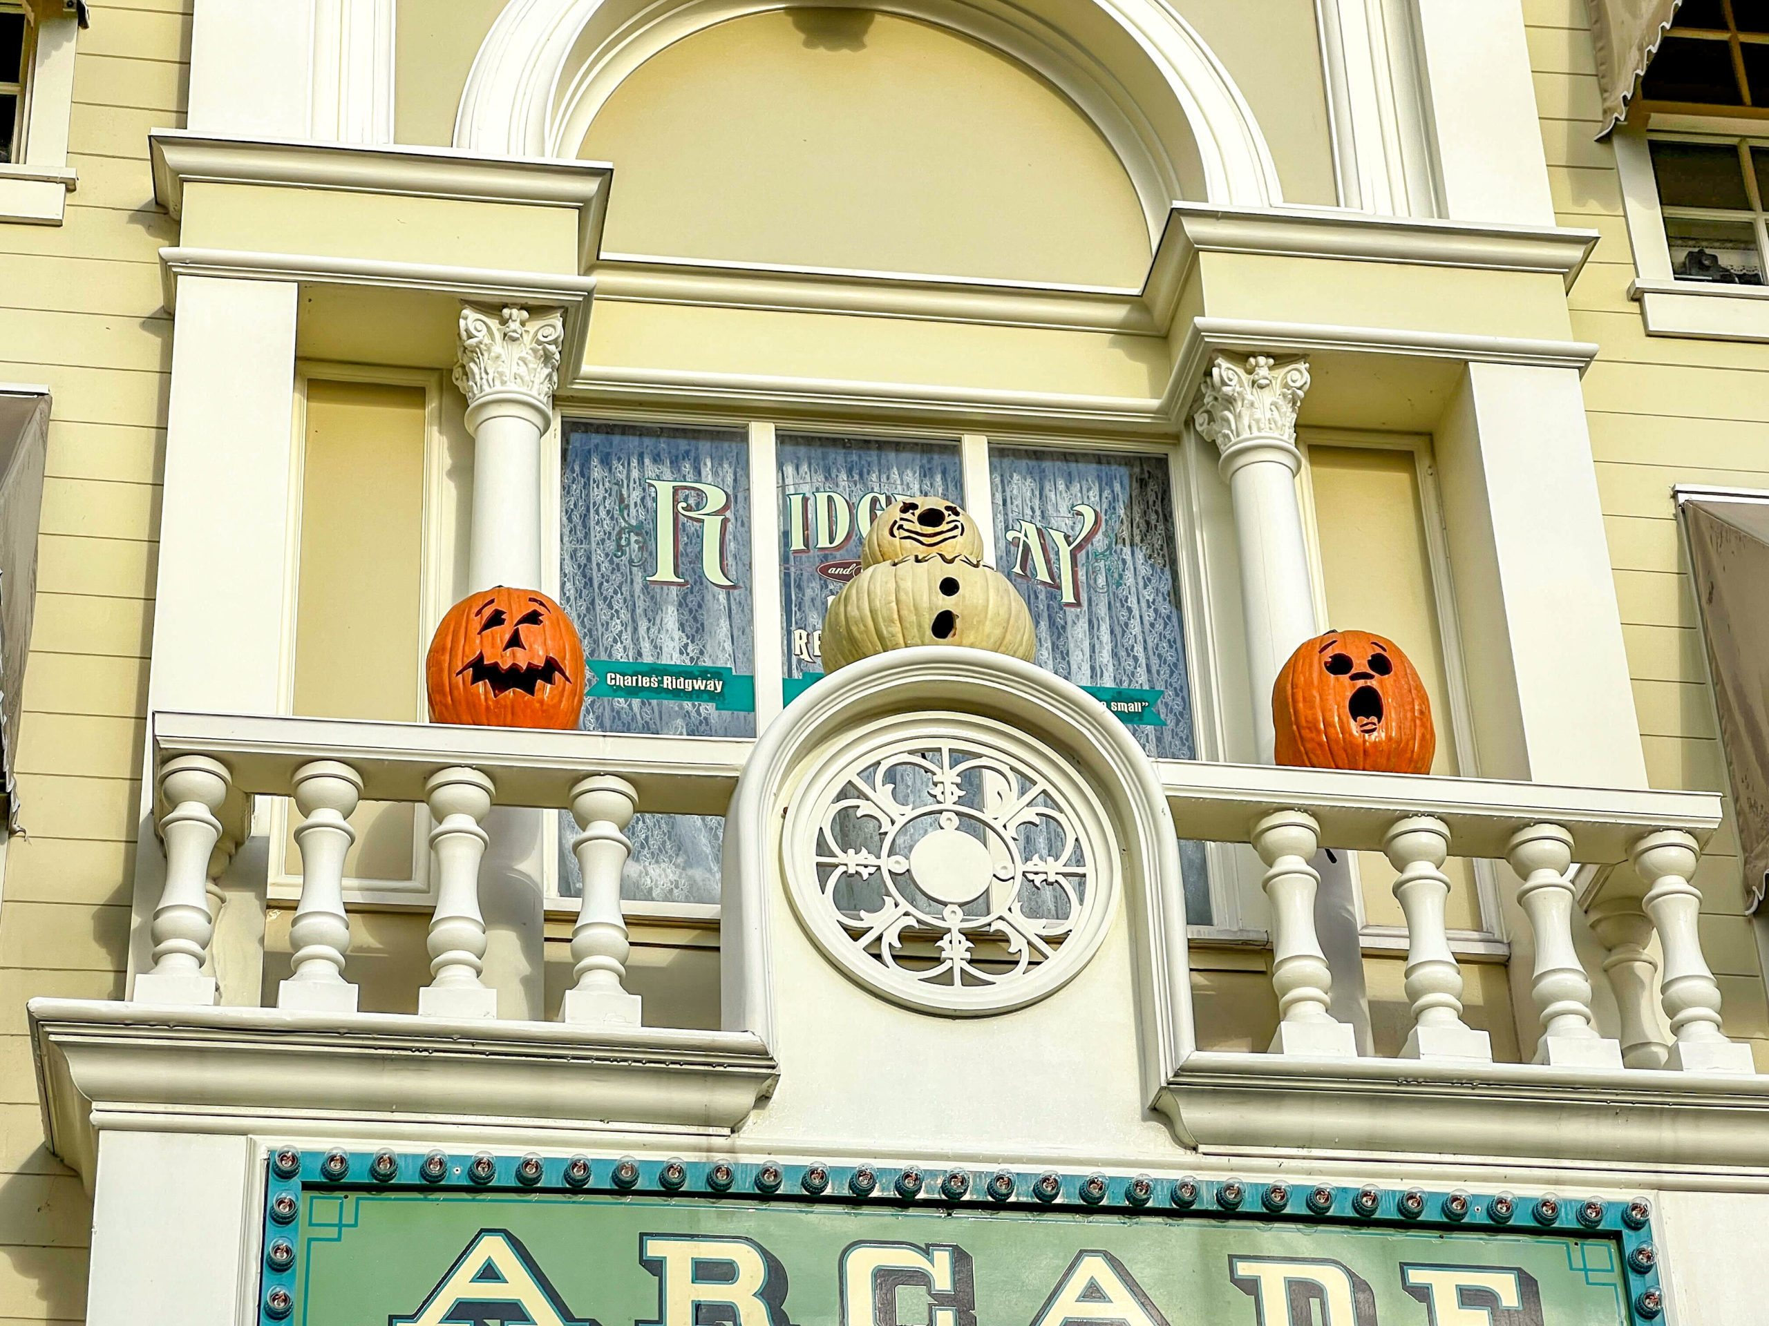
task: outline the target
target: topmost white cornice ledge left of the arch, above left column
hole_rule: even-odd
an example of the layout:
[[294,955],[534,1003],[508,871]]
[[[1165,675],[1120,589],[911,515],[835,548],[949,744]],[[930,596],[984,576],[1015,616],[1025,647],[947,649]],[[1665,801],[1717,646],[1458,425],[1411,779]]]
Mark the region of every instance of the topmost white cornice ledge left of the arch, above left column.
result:
[[578,214],[578,271],[587,271],[601,248],[614,175],[614,166],[601,161],[504,157],[446,147],[216,138],[184,129],[154,129],[147,141],[154,200],[173,217],[184,210],[189,182],[568,207]]

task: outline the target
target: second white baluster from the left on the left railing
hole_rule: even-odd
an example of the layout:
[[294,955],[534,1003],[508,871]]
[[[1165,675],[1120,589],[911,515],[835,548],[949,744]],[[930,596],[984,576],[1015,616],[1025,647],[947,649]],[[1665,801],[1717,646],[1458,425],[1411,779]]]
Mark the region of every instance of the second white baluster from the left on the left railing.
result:
[[295,971],[278,987],[278,1008],[356,1011],[356,987],[343,978],[345,953],[350,951],[343,857],[356,842],[348,819],[361,794],[363,780],[348,764],[313,760],[295,769],[295,808],[302,817],[295,829],[301,905],[288,926]]

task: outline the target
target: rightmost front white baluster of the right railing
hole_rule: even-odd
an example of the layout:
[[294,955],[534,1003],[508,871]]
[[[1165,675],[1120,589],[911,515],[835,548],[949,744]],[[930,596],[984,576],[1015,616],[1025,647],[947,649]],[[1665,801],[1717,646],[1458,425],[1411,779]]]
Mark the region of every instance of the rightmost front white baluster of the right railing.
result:
[[1640,905],[1652,918],[1665,949],[1659,997],[1675,1036],[1665,1066],[1691,1073],[1755,1071],[1751,1047],[1727,1040],[1719,1029],[1719,983],[1702,956],[1696,928],[1702,891],[1689,882],[1696,861],[1695,838],[1677,829],[1649,833],[1635,843],[1633,861],[1647,884]]

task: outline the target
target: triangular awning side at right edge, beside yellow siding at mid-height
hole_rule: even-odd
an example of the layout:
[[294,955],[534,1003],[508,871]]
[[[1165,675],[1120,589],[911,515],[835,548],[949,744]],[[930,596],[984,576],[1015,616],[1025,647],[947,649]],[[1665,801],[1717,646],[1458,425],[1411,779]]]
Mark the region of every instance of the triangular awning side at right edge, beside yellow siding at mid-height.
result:
[[1757,911],[1769,884],[1769,500],[1689,495],[1681,511],[1744,854],[1744,900]]

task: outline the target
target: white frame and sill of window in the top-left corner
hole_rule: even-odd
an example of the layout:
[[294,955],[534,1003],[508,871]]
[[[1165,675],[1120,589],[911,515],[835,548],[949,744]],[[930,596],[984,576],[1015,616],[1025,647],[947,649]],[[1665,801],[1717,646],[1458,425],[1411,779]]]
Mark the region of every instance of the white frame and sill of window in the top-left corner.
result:
[[[74,104],[74,46],[80,19],[73,5],[44,14],[30,0],[4,0],[23,12],[30,65],[21,94],[19,134],[25,159],[0,163],[0,221],[58,226],[78,175],[67,164],[67,122]],[[14,141],[14,150],[19,147]]]

